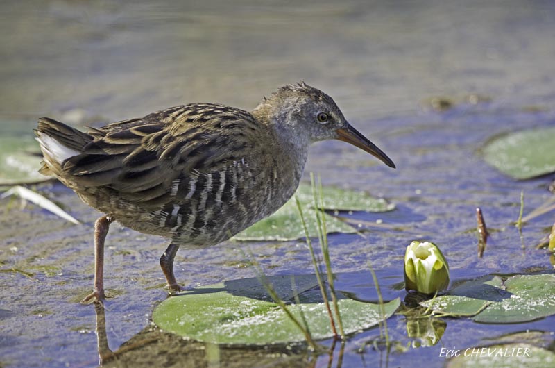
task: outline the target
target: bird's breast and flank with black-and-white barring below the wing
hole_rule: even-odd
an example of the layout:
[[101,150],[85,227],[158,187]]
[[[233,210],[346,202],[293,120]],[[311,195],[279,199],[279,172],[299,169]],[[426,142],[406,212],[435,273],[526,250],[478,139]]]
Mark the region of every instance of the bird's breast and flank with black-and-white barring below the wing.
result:
[[[253,162],[255,161],[255,162]],[[176,201],[152,213],[180,244],[210,246],[278,210],[298,187],[306,156],[241,159],[219,172],[178,178]]]

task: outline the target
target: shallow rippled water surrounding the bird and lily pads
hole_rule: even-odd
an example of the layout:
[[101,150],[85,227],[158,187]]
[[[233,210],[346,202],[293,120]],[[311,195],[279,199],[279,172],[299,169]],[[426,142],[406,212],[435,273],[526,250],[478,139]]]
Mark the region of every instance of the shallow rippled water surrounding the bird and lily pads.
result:
[[[384,196],[397,206],[384,214],[345,215],[370,230],[365,237],[330,237],[341,289],[374,299],[371,262],[386,295],[403,298],[404,292],[388,285],[402,281],[404,248],[419,238],[441,246],[455,282],[553,268],[549,255],[534,246],[554,215],[524,226],[522,240],[511,222],[518,217],[520,191],[527,213],[552,196],[547,187],[554,176],[513,181],[478,154],[492,135],[555,122],[551,1],[308,1],[300,6],[3,1],[0,10],[2,135],[31,135],[42,115],[96,124],[192,101],[250,110],[263,94],[302,78],[332,95],[345,117],[398,165],[388,169],[341,142],[311,149],[307,174],[320,174],[326,185]],[[453,107],[435,110],[432,97],[451,99]],[[39,189],[85,224],[0,202],[0,366],[94,366],[96,315],[92,306],[76,302],[92,284],[92,223],[99,214],[58,183]],[[488,228],[497,230],[482,259],[476,257],[477,206]],[[401,230],[368,225],[378,219]],[[194,286],[254,276],[244,268],[238,245],[181,251],[178,279]],[[107,364],[207,365],[202,344],[148,337],[155,333],[148,331],[153,306],[165,298],[157,262],[165,240],[112,226],[107,246],[105,285],[117,296],[106,303],[109,347],[116,351],[130,339],[155,338],[166,349],[138,344],[142,348]],[[252,249],[268,274],[311,267],[302,242],[241,246]],[[418,359],[441,367],[442,346],[466,349],[511,331],[553,332],[555,317],[511,325],[444,320],[440,344],[392,353],[388,365],[412,366]],[[411,342],[404,317],[389,319],[388,327],[394,340]],[[343,366],[386,366],[383,352],[367,347],[357,353],[377,335],[373,329],[352,337]],[[302,354],[274,355],[223,350],[220,358],[237,367],[314,364]],[[179,360],[184,356],[189,360]],[[333,359],[338,362],[339,351]],[[315,365],[327,363],[321,356]]]

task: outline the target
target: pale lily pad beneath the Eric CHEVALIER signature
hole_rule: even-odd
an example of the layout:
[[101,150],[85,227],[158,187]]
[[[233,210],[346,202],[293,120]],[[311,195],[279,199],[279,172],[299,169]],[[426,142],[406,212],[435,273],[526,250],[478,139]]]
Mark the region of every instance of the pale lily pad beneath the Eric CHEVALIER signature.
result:
[[447,368],[551,368],[555,353],[529,344],[502,344],[461,350]]

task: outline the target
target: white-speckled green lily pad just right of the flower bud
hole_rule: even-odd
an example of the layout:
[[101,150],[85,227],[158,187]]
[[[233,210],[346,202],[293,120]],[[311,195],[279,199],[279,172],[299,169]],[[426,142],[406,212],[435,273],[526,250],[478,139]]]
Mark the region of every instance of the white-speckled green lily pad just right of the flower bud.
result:
[[486,324],[533,321],[555,314],[555,274],[518,275],[504,283],[498,276],[484,276],[421,304]]

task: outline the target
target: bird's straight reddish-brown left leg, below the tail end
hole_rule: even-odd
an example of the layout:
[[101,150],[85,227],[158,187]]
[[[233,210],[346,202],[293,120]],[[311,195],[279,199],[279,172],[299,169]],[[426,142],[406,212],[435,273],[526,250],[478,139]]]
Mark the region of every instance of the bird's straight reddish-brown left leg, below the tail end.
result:
[[106,297],[104,294],[104,240],[112,221],[110,217],[103,216],[94,223],[94,287],[92,293],[81,301],[82,304],[88,303],[91,299],[102,303]]

